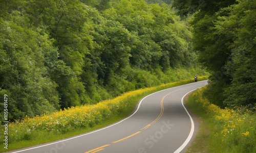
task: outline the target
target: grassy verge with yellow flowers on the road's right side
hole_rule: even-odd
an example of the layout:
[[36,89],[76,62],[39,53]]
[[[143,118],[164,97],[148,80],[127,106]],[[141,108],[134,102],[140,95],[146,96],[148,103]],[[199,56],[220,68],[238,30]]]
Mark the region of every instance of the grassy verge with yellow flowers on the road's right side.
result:
[[200,123],[199,132],[186,152],[256,152],[253,108],[220,109],[203,98],[206,88],[193,92],[186,101]]

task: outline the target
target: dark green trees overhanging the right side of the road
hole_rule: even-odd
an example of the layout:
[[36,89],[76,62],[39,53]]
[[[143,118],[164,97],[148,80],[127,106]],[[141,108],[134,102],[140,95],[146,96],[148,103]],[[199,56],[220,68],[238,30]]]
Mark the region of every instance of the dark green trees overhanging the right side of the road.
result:
[[193,49],[210,72],[205,95],[221,107],[256,106],[256,1],[174,0],[182,17],[194,14]]

